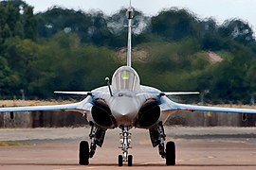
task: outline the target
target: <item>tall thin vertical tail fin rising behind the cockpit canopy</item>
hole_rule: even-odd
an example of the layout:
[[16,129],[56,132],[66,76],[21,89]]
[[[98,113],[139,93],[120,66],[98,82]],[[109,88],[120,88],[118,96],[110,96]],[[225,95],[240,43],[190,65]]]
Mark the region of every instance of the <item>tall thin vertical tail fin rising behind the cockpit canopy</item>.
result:
[[127,66],[132,67],[132,20],[134,18],[134,8],[132,8],[131,0],[126,16],[128,19]]

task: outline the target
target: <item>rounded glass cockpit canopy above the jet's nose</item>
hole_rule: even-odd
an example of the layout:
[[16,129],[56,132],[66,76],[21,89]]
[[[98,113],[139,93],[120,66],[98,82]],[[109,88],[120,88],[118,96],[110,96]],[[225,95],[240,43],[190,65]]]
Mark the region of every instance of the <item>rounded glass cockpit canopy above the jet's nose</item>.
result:
[[120,67],[112,77],[112,88],[116,92],[122,90],[139,91],[139,77],[137,72],[128,66]]

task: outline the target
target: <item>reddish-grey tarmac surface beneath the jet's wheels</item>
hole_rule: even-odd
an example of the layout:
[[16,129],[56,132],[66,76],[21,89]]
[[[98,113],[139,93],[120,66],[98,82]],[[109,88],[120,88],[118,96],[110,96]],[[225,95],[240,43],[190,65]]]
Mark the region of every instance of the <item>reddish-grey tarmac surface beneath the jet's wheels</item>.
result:
[[166,166],[153,148],[148,130],[131,129],[133,167],[119,167],[119,129],[108,130],[90,165],[78,164],[78,145],[90,129],[0,129],[0,141],[28,143],[0,146],[0,170],[82,169],[256,169],[256,127],[165,127],[166,141],[176,144],[176,165]]

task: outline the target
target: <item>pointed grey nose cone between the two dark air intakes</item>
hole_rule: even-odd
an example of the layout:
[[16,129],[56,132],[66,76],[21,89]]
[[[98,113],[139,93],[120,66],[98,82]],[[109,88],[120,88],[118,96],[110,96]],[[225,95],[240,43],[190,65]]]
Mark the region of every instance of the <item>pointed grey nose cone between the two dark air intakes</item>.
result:
[[110,110],[118,126],[130,126],[136,119],[139,107],[135,98],[118,97],[113,100]]

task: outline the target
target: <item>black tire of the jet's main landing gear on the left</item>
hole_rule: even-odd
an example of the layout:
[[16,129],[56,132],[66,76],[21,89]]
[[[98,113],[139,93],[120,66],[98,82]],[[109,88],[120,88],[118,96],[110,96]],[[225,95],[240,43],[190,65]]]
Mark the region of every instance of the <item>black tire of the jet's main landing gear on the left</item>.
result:
[[87,141],[80,142],[79,146],[79,164],[89,164],[89,144]]

